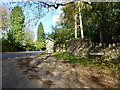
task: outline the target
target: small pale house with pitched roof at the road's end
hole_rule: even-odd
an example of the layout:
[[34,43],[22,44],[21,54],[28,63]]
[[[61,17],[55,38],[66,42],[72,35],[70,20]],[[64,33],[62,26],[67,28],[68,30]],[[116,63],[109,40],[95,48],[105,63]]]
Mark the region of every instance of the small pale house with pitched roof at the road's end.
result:
[[54,51],[53,50],[53,48],[54,48],[54,40],[48,37],[48,38],[46,38],[44,40],[44,43],[45,43],[47,52],[52,53]]

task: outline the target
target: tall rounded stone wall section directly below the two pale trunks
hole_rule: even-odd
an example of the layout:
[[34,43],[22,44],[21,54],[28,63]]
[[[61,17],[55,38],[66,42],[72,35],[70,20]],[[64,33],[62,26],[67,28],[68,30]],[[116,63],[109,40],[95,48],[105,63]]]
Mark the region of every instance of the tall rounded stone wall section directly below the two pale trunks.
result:
[[73,39],[66,43],[66,51],[80,57],[87,57],[91,44],[87,40]]

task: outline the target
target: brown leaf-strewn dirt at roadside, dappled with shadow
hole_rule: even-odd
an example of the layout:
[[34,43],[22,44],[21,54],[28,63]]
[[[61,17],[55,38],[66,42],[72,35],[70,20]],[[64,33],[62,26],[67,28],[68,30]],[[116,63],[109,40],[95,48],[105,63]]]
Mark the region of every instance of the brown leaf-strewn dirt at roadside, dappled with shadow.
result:
[[49,88],[120,88],[119,76],[98,68],[90,68],[51,55],[27,56],[16,65],[28,79],[38,80]]

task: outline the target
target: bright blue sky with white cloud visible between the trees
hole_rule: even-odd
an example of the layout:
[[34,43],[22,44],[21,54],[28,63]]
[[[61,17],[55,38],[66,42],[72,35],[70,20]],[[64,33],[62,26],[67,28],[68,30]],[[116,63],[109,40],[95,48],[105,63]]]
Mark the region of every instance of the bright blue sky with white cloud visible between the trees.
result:
[[[7,1],[9,1],[9,0],[7,0]],[[1,3],[1,0],[0,0],[0,3]],[[17,5],[17,3],[10,4],[9,7],[11,7],[13,9],[16,5]],[[28,26],[27,22],[29,21],[29,19],[35,17],[35,15],[32,13],[32,10],[30,8],[27,8],[27,9],[22,8],[24,11],[24,14],[27,15],[25,17],[29,17],[29,18],[25,19],[26,28],[34,32],[34,41],[37,39],[37,28],[38,28],[38,25],[40,22],[42,22],[43,27],[44,27],[44,31],[46,34],[52,32],[51,26],[55,26],[57,24],[56,22],[58,22],[60,20],[59,15],[60,15],[60,13],[62,13],[60,8],[61,7],[59,7],[57,10],[55,10],[54,8],[53,8],[53,10],[50,9],[49,12],[46,13],[42,18],[36,19],[36,21],[34,21],[34,20],[30,21],[30,26]],[[36,24],[33,24],[35,22],[36,22]]]

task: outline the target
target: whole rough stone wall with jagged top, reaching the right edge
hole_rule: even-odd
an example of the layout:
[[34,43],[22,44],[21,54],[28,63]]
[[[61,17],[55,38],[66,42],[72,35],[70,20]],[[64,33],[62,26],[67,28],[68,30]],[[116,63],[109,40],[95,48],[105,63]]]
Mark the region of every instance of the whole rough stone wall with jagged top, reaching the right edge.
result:
[[[75,56],[88,58],[90,53],[104,53],[102,55],[102,59],[104,60],[112,60],[119,59],[120,60],[120,44],[101,44],[101,43],[91,43],[88,40],[84,39],[74,39],[69,40],[66,43],[66,51]],[[97,57],[97,55],[95,55]]]

